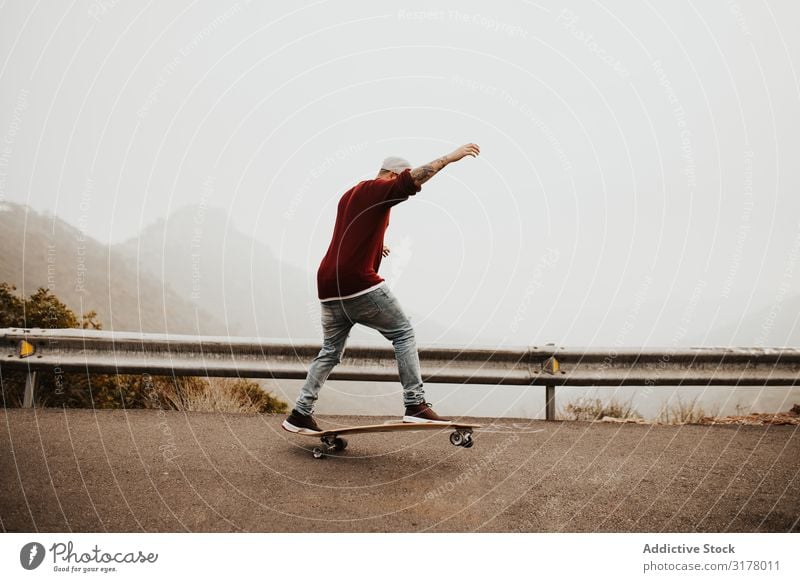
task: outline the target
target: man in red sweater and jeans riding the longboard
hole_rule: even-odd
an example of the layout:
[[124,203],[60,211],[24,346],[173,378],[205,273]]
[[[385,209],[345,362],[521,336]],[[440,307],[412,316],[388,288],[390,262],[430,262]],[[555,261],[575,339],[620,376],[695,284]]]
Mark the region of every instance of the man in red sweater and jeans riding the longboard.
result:
[[347,336],[356,323],[379,331],[394,346],[406,407],[403,421],[449,422],[425,402],[414,328],[378,269],[381,258],[389,254],[383,234],[392,206],[419,192],[446,165],[479,153],[476,144],[466,144],[416,169],[403,158],[388,157],[374,180],[360,182],[339,200],[333,237],[317,271],[322,349],[309,367],[294,410],[283,421],[286,430],[321,430],[312,416],[314,403],[331,370],[341,361]]

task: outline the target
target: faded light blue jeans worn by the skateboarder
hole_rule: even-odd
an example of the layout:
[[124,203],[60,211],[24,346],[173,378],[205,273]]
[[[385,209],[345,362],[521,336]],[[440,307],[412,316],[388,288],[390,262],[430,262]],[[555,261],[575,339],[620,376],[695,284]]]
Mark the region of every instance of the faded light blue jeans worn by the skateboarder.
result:
[[306,383],[297,397],[295,409],[298,412],[314,412],[319,391],[331,370],[342,360],[347,336],[356,323],[379,331],[394,345],[400,383],[403,385],[403,403],[413,406],[425,401],[414,328],[386,285],[358,297],[326,301],[321,305],[322,349],[311,362]]

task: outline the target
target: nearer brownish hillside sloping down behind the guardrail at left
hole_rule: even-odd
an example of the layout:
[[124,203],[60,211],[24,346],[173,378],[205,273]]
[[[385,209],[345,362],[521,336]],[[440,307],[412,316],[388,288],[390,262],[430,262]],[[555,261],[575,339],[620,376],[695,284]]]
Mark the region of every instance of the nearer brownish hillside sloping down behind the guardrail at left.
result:
[[0,205],[0,281],[24,296],[44,287],[76,314],[97,311],[104,329],[221,334],[216,318],[163,281],[64,220],[12,202]]

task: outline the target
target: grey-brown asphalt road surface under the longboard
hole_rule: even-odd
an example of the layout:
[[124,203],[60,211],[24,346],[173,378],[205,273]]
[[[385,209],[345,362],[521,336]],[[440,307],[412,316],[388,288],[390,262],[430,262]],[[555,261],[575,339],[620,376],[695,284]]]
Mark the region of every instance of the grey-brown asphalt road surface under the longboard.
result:
[[800,531],[796,426],[474,419],[471,449],[381,433],[317,460],[277,416],[0,414],[4,531]]

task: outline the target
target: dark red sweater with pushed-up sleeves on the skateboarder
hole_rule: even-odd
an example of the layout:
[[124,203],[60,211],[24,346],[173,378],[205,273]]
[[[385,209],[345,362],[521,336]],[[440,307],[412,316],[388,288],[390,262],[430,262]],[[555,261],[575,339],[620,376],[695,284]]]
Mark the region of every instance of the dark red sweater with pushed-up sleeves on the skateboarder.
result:
[[365,180],[345,192],[331,244],[317,271],[321,300],[353,295],[383,281],[378,268],[389,211],[419,191],[411,171],[404,170],[394,180]]

